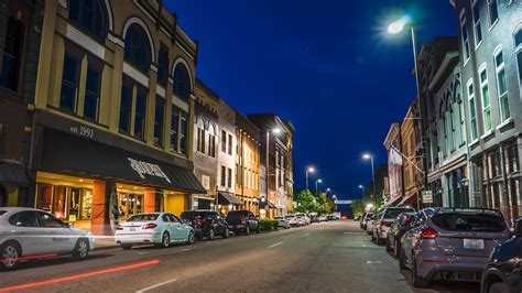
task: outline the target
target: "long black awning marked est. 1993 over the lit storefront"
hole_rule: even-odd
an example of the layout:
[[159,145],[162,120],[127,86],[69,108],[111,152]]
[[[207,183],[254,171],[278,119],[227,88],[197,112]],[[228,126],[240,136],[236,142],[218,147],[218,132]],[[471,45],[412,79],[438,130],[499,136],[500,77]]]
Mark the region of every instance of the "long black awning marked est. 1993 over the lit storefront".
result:
[[206,193],[191,169],[45,129],[39,170]]

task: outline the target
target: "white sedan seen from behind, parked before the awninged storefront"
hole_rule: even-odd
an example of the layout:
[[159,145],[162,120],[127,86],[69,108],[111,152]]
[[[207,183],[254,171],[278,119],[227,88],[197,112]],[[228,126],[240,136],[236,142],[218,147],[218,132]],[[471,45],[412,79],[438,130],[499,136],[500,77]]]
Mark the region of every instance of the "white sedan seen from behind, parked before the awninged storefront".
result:
[[172,243],[194,243],[194,228],[171,213],[141,213],[128,218],[116,228],[115,241],[122,249],[134,245],[154,245],[167,248]]

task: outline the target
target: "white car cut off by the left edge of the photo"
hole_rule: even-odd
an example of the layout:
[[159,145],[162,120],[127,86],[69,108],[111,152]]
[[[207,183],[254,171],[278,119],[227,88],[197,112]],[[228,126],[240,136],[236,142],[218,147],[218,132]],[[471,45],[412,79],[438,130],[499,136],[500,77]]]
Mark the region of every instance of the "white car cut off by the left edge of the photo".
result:
[[22,260],[57,254],[84,260],[94,248],[90,232],[72,228],[46,211],[0,207],[0,269],[12,270]]

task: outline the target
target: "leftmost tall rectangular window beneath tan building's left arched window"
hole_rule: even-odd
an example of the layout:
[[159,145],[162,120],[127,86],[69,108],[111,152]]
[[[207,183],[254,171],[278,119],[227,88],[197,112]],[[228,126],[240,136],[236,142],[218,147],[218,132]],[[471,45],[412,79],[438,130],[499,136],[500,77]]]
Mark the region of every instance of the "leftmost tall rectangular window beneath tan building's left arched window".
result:
[[78,104],[78,79],[79,61],[66,53],[64,57],[59,108],[72,113],[76,112]]

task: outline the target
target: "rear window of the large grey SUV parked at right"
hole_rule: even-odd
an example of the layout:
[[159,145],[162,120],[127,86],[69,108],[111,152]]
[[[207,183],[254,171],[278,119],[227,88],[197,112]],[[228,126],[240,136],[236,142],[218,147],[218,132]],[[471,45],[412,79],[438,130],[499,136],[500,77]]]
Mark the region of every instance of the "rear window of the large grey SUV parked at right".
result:
[[450,231],[501,232],[507,228],[502,217],[487,214],[435,214],[432,220],[442,229]]

